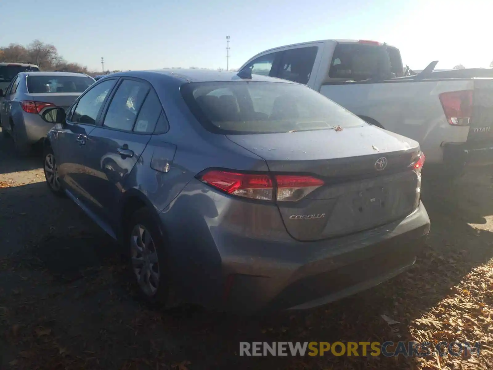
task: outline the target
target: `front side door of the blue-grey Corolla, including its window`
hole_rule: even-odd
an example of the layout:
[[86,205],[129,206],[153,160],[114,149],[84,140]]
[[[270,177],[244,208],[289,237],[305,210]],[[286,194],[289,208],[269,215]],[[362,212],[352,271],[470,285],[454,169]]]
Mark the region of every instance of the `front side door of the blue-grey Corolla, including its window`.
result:
[[70,108],[65,125],[55,132],[55,156],[58,174],[65,188],[82,204],[90,202],[90,195],[80,185],[90,162],[90,153],[85,149],[88,135],[96,128],[98,117],[106,99],[117,82],[106,79],[90,87]]

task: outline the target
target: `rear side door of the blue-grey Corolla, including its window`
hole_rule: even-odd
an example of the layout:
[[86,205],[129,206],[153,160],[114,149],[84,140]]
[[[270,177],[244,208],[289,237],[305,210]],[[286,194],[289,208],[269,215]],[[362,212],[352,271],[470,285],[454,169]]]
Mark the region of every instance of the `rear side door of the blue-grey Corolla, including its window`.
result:
[[101,125],[89,135],[86,150],[91,176],[84,188],[91,194],[91,208],[115,226],[118,201],[130,172],[141,159],[162,111],[151,85],[122,78],[109,100]]

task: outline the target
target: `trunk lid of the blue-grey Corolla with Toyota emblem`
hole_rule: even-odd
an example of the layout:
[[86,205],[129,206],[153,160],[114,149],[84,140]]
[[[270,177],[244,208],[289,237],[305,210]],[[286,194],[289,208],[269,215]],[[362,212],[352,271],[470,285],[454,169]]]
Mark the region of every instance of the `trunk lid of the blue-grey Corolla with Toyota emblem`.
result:
[[[227,137],[262,157],[271,172],[324,181],[301,200],[277,202],[288,233],[297,240],[373,228],[414,210],[418,176],[409,165],[420,149],[411,139],[370,125]],[[383,169],[377,163],[381,158],[387,163]]]

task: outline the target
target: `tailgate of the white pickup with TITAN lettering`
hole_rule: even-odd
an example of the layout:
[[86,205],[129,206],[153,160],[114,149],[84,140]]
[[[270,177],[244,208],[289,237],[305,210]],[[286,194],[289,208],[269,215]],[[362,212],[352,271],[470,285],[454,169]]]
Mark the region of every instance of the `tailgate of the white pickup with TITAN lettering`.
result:
[[468,142],[491,143],[493,139],[493,79],[475,78]]

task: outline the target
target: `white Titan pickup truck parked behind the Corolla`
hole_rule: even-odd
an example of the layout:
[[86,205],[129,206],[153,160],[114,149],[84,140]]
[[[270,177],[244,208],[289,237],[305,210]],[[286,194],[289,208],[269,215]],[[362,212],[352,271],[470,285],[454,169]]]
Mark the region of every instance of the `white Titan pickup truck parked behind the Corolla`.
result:
[[393,46],[321,40],[263,51],[240,70],[306,84],[368,123],[418,141],[433,172],[457,176],[466,165],[493,164],[493,78],[434,73],[436,63],[404,76]]

